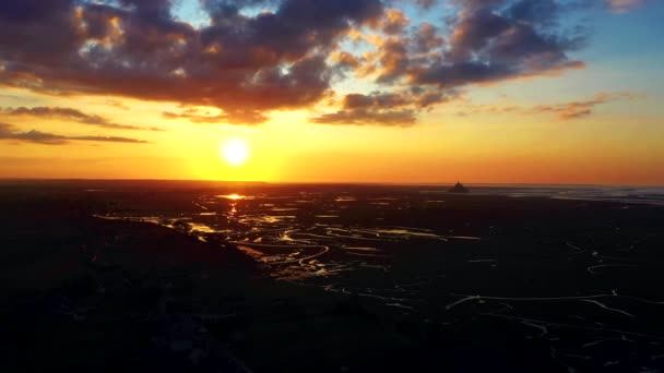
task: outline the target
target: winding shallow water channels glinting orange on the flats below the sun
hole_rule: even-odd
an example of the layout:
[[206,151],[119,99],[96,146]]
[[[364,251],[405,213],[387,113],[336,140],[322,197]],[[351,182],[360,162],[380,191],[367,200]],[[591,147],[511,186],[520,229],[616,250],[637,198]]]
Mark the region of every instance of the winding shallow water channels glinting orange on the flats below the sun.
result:
[[[239,245],[265,265],[275,278],[289,280],[328,278],[357,268],[383,270],[390,266],[389,253],[381,249],[386,244],[481,240],[443,230],[386,226],[383,209],[410,206],[407,200],[390,195],[361,198],[347,193],[325,196],[230,193],[199,195],[192,204],[200,210],[189,215],[114,217],[179,227],[205,240],[216,236]],[[370,216],[349,225],[344,212],[358,204],[369,206]],[[313,260],[316,263],[311,263]]]

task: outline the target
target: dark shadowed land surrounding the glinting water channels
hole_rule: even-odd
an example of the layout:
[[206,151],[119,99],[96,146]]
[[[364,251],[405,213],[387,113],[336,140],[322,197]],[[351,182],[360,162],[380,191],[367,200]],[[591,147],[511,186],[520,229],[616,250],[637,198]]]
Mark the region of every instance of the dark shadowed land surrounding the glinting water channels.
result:
[[[431,207],[390,186],[408,204],[383,224],[481,240],[395,240],[374,267],[307,280],[277,280],[222,238],[94,217],[185,212],[191,193],[235,186],[183,188],[0,184],[0,372],[664,370],[661,207],[472,195]],[[368,205],[346,210],[340,226],[376,226]]]

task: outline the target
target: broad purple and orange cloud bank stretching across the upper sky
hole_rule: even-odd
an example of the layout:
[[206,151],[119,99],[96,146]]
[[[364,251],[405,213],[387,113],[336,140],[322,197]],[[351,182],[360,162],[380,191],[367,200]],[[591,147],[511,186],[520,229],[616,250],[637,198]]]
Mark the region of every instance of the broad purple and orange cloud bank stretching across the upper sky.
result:
[[[315,121],[392,125],[412,123],[423,108],[470,85],[584,67],[570,57],[585,35],[561,22],[579,8],[567,1],[451,0],[453,14],[436,25],[411,24],[403,10],[387,8],[401,0],[200,1],[210,17],[202,26],[175,17],[171,0],[0,2],[0,86],[211,107],[218,113],[164,116],[258,124],[272,110],[311,109],[336,82],[361,77],[384,94],[405,92],[407,104],[339,107]],[[438,2],[416,3],[426,10]],[[348,47],[354,43],[361,45]],[[419,98],[411,97],[415,92]],[[66,108],[35,109],[133,129]]]

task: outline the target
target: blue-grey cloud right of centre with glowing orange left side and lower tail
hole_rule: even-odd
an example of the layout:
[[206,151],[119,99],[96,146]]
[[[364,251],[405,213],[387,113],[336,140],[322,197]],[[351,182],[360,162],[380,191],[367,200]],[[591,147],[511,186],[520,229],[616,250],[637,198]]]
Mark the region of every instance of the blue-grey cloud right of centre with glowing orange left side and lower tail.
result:
[[[377,124],[388,110],[401,120],[407,110],[417,117],[426,106],[443,104],[467,86],[496,84],[509,80],[557,76],[567,70],[583,69],[582,61],[568,57],[584,46],[582,28],[562,29],[561,16],[579,7],[555,0],[455,0],[455,15],[438,27],[423,22],[406,28],[386,25],[400,24],[400,14],[386,12],[382,35],[368,32],[354,35],[372,47],[361,61],[347,60],[359,76],[372,79],[386,93],[400,93],[404,86],[420,92],[422,99],[404,98],[399,109],[376,106],[356,109],[344,106],[336,113],[313,118],[313,122]],[[426,5],[426,4],[425,4]],[[395,32],[401,29],[400,32]],[[368,99],[364,95],[365,99]],[[374,97],[376,99],[376,97]],[[392,118],[392,117],[389,117]],[[411,123],[410,121],[406,121]],[[394,121],[386,123],[390,125]]]

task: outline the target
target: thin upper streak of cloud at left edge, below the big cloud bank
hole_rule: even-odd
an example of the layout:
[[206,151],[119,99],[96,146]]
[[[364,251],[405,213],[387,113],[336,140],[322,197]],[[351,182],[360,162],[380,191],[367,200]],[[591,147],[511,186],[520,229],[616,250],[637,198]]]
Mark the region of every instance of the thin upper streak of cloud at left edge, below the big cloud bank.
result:
[[0,116],[60,119],[110,130],[162,131],[158,128],[142,128],[135,125],[117,124],[100,116],[87,115],[78,109],[61,107],[0,108]]

